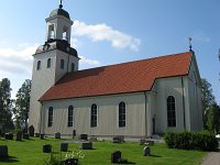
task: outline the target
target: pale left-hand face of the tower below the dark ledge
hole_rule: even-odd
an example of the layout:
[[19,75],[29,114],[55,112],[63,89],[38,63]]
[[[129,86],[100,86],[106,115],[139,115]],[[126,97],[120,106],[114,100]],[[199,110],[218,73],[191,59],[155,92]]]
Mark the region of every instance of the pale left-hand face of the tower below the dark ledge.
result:
[[[33,69],[32,69],[32,87],[31,87],[31,101],[30,101],[30,116],[29,125],[34,125],[36,132],[40,124],[40,109],[41,105],[37,101],[40,97],[54,85],[55,75],[55,51],[43,54],[33,55]],[[51,68],[47,68],[47,59],[51,58]],[[37,70],[37,62],[41,61],[41,68]]]

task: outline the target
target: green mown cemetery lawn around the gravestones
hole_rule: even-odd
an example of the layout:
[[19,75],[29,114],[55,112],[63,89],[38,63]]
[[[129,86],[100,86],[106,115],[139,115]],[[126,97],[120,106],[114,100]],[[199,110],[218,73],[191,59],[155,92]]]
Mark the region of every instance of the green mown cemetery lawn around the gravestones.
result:
[[[44,165],[48,154],[42,152],[44,144],[52,144],[55,151],[59,150],[61,142],[70,140],[32,138],[22,142],[4,141],[0,139],[0,145],[8,145],[9,158],[0,158],[0,164],[12,165]],[[79,151],[79,143],[68,144],[68,150]],[[166,144],[155,144],[151,146],[151,156],[143,156],[143,145],[134,142],[117,144],[112,142],[94,142],[94,150],[82,151],[85,158],[80,161],[82,165],[110,165],[111,153],[122,152],[122,158],[127,158],[131,164],[138,165],[199,165],[202,157],[208,152],[184,151],[167,148]],[[58,154],[59,155],[59,154]],[[65,156],[65,153],[62,153]]]

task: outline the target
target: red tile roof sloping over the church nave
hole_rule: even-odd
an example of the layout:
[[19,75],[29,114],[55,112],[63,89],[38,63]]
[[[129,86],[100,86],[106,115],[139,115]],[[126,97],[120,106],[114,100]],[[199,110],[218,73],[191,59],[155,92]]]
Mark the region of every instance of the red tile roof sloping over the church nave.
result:
[[155,79],[188,75],[191,52],[73,72],[40,101],[151,90]]

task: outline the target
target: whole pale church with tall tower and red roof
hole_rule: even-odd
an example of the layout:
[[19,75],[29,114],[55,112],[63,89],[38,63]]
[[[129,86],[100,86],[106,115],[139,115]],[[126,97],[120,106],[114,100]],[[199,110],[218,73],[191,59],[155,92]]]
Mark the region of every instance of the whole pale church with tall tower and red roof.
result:
[[78,70],[73,21],[59,6],[33,55],[29,125],[54,135],[143,138],[202,129],[201,84],[194,51]]

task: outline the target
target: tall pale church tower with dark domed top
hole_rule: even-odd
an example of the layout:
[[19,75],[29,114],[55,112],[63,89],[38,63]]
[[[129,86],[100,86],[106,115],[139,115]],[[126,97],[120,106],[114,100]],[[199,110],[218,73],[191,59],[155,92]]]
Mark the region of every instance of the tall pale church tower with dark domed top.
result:
[[46,19],[45,43],[33,55],[29,127],[41,133],[41,102],[38,99],[64,75],[78,70],[79,57],[70,46],[73,21],[61,4]]

